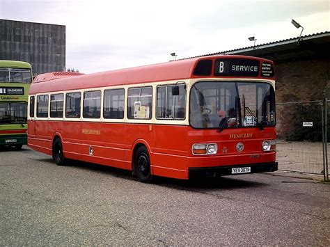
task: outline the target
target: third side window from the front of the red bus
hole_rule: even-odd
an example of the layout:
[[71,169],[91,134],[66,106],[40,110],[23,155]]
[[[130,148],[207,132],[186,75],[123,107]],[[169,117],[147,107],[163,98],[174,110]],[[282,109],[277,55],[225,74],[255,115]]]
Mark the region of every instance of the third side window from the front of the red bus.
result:
[[111,119],[123,119],[124,98],[124,89],[104,90],[103,117]]

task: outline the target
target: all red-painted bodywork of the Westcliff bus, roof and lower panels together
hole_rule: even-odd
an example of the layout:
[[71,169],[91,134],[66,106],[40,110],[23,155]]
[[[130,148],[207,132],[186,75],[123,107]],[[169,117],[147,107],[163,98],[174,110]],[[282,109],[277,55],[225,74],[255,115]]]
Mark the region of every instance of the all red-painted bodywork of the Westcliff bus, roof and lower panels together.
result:
[[[194,66],[198,61],[201,59],[214,61],[225,57],[228,56],[191,58],[125,70],[81,74],[79,77],[51,79],[51,76],[45,76],[49,81],[42,81],[40,78],[34,81],[29,95],[199,78],[193,74]],[[256,59],[249,56],[230,57]],[[260,63],[264,61],[272,63],[266,59],[259,59]],[[228,78],[233,79],[233,77]],[[265,78],[259,75],[248,79]],[[274,80],[274,77],[267,80]],[[29,119],[28,123],[28,145],[34,150],[52,155],[52,143],[54,137],[58,136],[63,143],[65,158],[126,170],[132,170],[134,148],[143,144],[150,154],[152,175],[164,177],[189,179],[189,168],[267,164],[276,160],[275,150],[262,151],[262,141],[276,139],[275,127],[265,127],[263,130],[258,127],[228,128],[219,132],[218,129],[194,129],[189,125],[161,125],[151,122],[135,124],[88,122],[86,119],[84,121]],[[194,155],[191,147],[195,143],[217,143],[218,152],[214,155]],[[244,144],[242,152],[237,152],[237,143]],[[91,148],[93,155],[90,154]]]

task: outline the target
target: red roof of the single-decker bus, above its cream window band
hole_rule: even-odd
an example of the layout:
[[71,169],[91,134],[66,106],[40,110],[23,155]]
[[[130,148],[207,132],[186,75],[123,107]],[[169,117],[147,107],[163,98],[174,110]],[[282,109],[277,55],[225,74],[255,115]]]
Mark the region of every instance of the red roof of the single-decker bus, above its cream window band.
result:
[[[35,79],[31,85],[29,93],[46,93],[64,90],[79,90],[83,88],[101,88],[105,86],[148,83],[155,81],[172,81],[200,77],[205,78],[205,76],[194,75],[194,68],[196,67],[198,61],[209,59],[212,60],[214,64],[214,60],[219,58],[254,59],[262,62],[272,63],[272,61],[267,59],[251,56],[204,56],[178,61],[170,61],[167,63],[158,63],[155,65],[145,65],[121,70],[112,70],[108,72],[98,72],[94,74],[84,74],[79,77],[62,77],[56,80],[38,79],[38,81]],[[38,77],[42,76],[43,74],[38,75]]]

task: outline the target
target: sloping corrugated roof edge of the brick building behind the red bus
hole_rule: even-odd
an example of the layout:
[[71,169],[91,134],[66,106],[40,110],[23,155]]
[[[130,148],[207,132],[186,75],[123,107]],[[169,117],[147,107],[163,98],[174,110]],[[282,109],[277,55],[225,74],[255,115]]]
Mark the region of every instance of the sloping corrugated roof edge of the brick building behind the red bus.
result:
[[[244,54],[244,55],[246,54],[246,55],[250,55],[250,56],[255,56],[255,55],[258,55],[258,53],[260,53],[260,54],[265,53],[265,52],[256,52],[256,51],[261,51],[261,50],[263,50],[263,51],[267,50],[267,53],[269,53],[269,52],[272,53],[275,51],[283,50],[283,48],[284,49],[293,49],[293,48],[297,47],[298,40],[299,40],[299,43],[309,41],[309,42],[315,43],[314,45],[318,45],[320,43],[323,44],[324,42],[329,43],[330,42],[330,32],[324,31],[322,33],[313,33],[310,35],[301,36],[300,38],[299,37],[289,38],[286,40],[278,40],[278,41],[269,42],[269,43],[265,43],[265,44],[261,44],[261,45],[243,47],[243,48],[238,48],[238,49],[231,49],[231,50],[227,50],[227,51],[218,51],[218,52],[214,52],[212,54],[192,56],[189,58],[198,58],[201,56],[214,56],[214,55],[232,55],[232,54]],[[294,46],[289,47],[288,45],[290,45],[290,44],[294,45]],[[283,45],[287,45],[287,46],[283,47]],[[276,47],[278,47],[278,49],[276,49]],[[253,54],[251,54],[251,52]],[[182,59],[188,59],[188,58],[182,58]]]

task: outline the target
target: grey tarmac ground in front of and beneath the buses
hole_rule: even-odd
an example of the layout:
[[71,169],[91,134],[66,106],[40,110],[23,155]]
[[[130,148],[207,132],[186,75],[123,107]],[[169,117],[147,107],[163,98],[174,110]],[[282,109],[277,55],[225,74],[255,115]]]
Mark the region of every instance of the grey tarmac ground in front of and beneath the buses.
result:
[[285,173],[137,182],[0,150],[0,246],[330,246],[330,184]]

